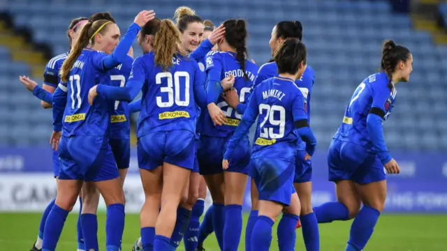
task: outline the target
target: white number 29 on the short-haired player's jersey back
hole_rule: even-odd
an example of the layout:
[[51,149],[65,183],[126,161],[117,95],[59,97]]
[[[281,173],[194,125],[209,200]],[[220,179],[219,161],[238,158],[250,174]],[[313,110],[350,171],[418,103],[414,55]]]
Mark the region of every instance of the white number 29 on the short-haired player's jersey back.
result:
[[[279,112],[279,119],[274,119],[274,113]],[[261,133],[259,136],[264,139],[281,139],[284,137],[284,130],[286,126],[286,109],[280,105],[259,105],[259,114],[264,115],[263,122],[259,125],[259,130]],[[268,128],[265,128],[265,123],[270,123]],[[279,133],[274,133],[273,129],[279,126]]]

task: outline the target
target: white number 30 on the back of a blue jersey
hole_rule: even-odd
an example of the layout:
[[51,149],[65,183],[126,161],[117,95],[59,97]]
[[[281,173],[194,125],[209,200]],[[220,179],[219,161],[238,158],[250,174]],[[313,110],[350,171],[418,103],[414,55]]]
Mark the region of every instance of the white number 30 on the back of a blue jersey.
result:
[[[180,77],[184,77],[184,91],[180,91]],[[185,71],[178,71],[174,73],[158,73],[155,76],[156,84],[161,84],[162,79],[166,78],[166,83],[168,86],[160,87],[162,93],[168,93],[168,101],[163,102],[161,97],[156,97],[156,105],[158,107],[172,107],[174,105],[186,107],[189,105],[189,73]],[[174,89],[175,91],[174,91]],[[175,92],[175,98],[174,98]],[[180,94],[184,92],[184,100],[180,100]]]

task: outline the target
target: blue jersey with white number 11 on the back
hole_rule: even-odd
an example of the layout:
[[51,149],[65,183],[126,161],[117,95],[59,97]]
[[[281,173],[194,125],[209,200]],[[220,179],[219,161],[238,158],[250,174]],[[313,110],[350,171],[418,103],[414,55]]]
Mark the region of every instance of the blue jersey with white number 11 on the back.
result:
[[110,113],[114,102],[101,96],[89,105],[88,95],[96,84],[110,85],[110,73],[103,68],[103,52],[84,49],[71,68],[68,82],[61,82],[61,89],[67,90],[67,102],[64,110],[64,136],[95,135],[108,136]]

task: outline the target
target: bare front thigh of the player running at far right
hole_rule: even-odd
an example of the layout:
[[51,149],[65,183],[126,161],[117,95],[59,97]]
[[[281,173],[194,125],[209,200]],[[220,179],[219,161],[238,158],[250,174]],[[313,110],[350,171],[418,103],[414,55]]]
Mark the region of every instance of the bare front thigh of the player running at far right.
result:
[[356,183],[360,199],[364,205],[383,211],[386,200],[386,180],[367,184]]

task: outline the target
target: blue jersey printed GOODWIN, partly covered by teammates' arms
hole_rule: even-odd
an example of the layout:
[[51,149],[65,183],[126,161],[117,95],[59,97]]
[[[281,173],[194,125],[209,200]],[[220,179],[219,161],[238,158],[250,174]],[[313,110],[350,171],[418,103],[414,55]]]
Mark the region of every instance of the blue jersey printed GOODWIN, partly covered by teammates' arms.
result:
[[[244,73],[240,68],[240,63],[236,60],[236,54],[233,52],[218,52],[212,51],[207,54],[206,57],[206,71],[212,68],[221,70],[221,79],[233,75],[235,77],[235,84],[233,89],[237,91],[240,102],[244,103],[247,100],[248,93],[253,86],[256,73],[258,72],[258,66],[249,60],[245,63],[245,73],[247,73],[248,79],[244,77]],[[219,97],[217,100],[217,106],[221,108],[226,115],[227,123],[223,126],[214,126],[210,114],[203,112],[203,130],[202,134],[210,137],[228,137],[231,135],[236,126],[242,119],[242,114],[239,114],[233,107],[228,106],[226,101]]]

